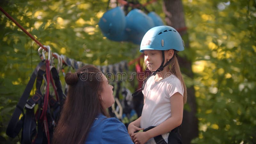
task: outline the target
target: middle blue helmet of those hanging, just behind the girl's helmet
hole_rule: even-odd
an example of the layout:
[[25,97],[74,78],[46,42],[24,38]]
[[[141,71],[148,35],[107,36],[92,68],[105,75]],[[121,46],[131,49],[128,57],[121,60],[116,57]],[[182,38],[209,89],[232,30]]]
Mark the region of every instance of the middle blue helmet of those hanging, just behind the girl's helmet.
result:
[[154,27],[153,20],[139,9],[131,10],[125,20],[128,41],[132,41],[134,44],[140,44],[145,33]]

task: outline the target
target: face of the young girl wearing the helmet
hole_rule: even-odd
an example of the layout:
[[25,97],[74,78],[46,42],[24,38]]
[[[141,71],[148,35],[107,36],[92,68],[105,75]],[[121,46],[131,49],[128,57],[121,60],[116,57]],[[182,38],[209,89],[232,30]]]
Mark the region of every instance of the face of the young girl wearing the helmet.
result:
[[144,50],[144,62],[150,71],[156,71],[163,61],[162,52],[159,50]]

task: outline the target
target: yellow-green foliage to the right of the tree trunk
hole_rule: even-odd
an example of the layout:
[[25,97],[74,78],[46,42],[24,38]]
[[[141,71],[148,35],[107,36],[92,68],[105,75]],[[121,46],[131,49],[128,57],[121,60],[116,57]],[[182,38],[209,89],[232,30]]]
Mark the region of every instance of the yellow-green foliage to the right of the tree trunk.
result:
[[194,143],[255,143],[255,1],[183,2],[199,119]]

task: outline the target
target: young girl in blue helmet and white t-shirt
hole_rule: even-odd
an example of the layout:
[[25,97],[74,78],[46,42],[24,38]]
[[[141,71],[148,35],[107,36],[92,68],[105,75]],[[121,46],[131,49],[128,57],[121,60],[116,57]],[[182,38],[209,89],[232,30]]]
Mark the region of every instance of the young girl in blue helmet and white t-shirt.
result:
[[180,34],[170,26],[151,28],[143,37],[140,52],[144,53],[145,64],[152,75],[142,85],[142,114],[128,126],[135,144],[181,143],[178,127],[187,91],[177,52],[183,50]]

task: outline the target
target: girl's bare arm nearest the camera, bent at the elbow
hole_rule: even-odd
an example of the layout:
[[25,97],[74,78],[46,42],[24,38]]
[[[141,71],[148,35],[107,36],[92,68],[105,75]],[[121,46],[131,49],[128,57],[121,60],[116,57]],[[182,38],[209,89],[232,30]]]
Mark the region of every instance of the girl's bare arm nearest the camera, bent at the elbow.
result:
[[172,116],[147,132],[134,133],[132,137],[134,137],[135,142],[145,143],[150,138],[170,132],[172,129],[180,126],[183,118],[183,97],[179,92],[176,92],[171,96],[170,102]]

